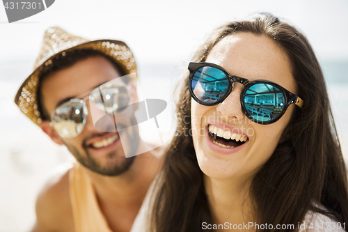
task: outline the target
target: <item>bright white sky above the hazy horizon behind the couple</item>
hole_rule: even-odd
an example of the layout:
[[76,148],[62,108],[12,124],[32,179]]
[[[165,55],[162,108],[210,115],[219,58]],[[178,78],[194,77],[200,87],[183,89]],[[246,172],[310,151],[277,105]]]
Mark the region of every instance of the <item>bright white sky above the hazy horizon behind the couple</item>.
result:
[[319,59],[348,59],[347,0],[56,0],[47,10],[11,24],[0,6],[0,61],[34,63],[45,29],[60,26],[90,40],[124,40],[141,64],[185,62],[216,26],[255,12],[294,24]]

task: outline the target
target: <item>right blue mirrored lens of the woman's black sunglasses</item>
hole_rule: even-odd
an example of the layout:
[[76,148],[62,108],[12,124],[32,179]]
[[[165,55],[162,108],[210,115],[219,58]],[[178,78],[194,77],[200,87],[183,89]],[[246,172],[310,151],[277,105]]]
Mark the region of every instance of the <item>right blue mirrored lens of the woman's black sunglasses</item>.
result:
[[245,92],[246,111],[254,119],[263,122],[274,121],[285,107],[285,97],[280,89],[271,84],[254,84]]

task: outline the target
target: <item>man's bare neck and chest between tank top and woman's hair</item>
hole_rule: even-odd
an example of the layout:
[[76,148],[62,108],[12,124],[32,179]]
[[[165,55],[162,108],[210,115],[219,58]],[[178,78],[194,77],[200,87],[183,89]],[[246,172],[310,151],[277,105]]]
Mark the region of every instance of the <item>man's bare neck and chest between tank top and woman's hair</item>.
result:
[[[141,142],[140,146],[147,145]],[[161,167],[162,158],[154,153],[152,150],[137,155],[132,166],[119,176],[102,176],[84,169],[111,231],[123,232],[132,228],[148,188]]]

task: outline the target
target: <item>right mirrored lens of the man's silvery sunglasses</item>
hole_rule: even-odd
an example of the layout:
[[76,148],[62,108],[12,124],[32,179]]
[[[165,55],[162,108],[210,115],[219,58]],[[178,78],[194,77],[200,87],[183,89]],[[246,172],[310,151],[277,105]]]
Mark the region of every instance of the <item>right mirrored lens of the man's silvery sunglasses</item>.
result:
[[120,114],[130,103],[127,87],[118,82],[107,82],[90,93],[89,99],[106,113]]

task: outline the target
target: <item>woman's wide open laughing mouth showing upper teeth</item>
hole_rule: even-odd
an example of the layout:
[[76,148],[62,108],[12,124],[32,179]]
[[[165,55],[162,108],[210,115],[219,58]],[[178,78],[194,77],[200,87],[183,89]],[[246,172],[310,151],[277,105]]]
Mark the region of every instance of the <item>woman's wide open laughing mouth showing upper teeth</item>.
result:
[[221,148],[235,148],[241,146],[248,140],[246,135],[233,133],[229,130],[222,130],[215,125],[208,125],[208,135],[209,139]]

